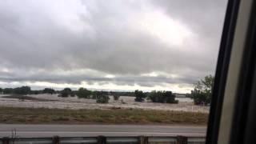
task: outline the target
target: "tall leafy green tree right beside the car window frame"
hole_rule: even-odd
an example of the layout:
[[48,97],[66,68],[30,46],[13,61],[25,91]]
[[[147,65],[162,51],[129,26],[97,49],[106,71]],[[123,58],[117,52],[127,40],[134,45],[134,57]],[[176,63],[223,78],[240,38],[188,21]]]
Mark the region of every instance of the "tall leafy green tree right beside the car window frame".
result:
[[212,75],[207,75],[205,78],[198,81],[194,86],[194,90],[191,90],[191,97],[194,99],[194,104],[210,104],[213,87],[214,76]]

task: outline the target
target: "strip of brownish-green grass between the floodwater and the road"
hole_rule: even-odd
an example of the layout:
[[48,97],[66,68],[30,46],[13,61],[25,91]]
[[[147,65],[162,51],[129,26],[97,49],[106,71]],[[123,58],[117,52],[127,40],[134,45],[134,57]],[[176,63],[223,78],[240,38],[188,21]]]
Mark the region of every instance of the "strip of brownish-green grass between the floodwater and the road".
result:
[[163,110],[62,110],[0,107],[0,123],[206,125],[208,114]]

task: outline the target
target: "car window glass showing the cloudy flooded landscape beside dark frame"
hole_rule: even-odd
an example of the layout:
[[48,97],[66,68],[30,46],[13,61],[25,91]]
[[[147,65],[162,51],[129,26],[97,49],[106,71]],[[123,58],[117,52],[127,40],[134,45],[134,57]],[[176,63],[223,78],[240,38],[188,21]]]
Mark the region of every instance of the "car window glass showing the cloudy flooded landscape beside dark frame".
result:
[[225,12],[221,0],[0,2],[0,136],[205,138]]

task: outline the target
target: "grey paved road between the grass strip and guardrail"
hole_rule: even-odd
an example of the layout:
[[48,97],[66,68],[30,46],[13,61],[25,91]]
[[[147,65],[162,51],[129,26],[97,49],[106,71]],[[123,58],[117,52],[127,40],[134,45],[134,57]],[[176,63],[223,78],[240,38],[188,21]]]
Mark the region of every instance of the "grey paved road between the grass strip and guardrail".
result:
[[152,125],[6,125],[0,124],[0,137],[88,137],[88,136],[206,136],[204,126]]

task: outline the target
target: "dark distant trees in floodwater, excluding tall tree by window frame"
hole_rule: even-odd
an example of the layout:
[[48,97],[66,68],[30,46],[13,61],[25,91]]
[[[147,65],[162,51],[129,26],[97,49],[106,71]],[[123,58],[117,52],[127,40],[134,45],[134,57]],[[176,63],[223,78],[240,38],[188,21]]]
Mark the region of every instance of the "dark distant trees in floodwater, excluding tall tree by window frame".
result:
[[151,102],[161,103],[178,103],[175,100],[175,95],[171,91],[151,91],[143,92],[142,90],[134,90],[133,92],[126,91],[103,91],[103,90],[87,90],[86,88],[79,88],[72,90],[68,87],[63,90],[54,90],[52,88],[45,88],[43,90],[31,90],[30,86],[21,86],[16,88],[0,88],[0,94],[58,94],[58,97],[67,98],[77,96],[78,98],[92,98],[96,99],[98,103],[107,103],[110,100],[110,95],[115,101],[118,101],[120,96],[135,97],[135,102],[144,102],[145,99]]

